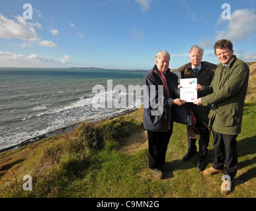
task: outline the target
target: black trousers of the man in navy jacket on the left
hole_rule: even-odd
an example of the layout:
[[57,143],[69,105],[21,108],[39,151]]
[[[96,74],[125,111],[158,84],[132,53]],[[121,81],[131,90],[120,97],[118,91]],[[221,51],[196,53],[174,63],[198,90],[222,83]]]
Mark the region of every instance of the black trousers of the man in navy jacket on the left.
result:
[[167,132],[148,131],[148,167],[150,169],[165,164],[165,155],[172,132],[172,127]]

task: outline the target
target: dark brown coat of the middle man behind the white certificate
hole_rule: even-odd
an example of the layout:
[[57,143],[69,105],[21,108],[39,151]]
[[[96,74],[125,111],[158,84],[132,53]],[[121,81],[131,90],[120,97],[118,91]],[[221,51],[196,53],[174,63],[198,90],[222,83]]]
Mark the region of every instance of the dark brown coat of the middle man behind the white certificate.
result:
[[[210,86],[212,78],[214,77],[214,72],[217,65],[209,63],[207,61],[201,62],[201,70],[196,73],[192,70],[191,63],[187,63],[178,68],[179,73],[181,73],[181,78],[197,78],[197,83],[200,85]],[[202,98],[206,94],[198,92],[198,98]],[[210,111],[210,106],[196,106],[195,104],[187,104],[191,111],[193,111],[196,119],[208,124],[208,113]]]

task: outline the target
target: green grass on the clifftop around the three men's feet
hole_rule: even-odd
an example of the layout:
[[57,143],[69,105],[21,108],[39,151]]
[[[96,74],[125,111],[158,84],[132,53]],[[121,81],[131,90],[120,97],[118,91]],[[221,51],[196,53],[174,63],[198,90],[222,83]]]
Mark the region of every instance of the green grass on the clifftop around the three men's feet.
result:
[[[46,148],[33,160],[33,165],[26,168],[26,172],[22,171],[23,174],[32,174],[33,191],[22,191],[22,179],[21,175],[18,175],[20,185],[2,185],[0,196],[255,197],[255,108],[255,104],[245,105],[242,132],[237,137],[238,171],[234,179],[234,191],[228,196],[220,194],[221,174],[204,177],[202,172],[196,171],[196,156],[188,162],[181,162],[187,152],[185,125],[174,125],[166,154],[167,166],[171,171],[165,172],[163,180],[154,179],[149,171],[147,148],[134,155],[119,152],[122,139],[141,127],[141,122],[131,115],[87,127],[90,133],[101,131],[101,135],[97,135],[97,140],[101,140],[101,143],[89,146],[84,144],[85,138],[78,145],[66,141]],[[75,132],[77,136],[81,136],[82,128]],[[88,137],[91,136],[87,134]],[[97,140],[93,143],[97,143]],[[197,142],[196,144],[198,146]],[[70,146],[77,147],[77,150],[71,150]],[[213,160],[211,138],[206,158],[207,167],[212,165]]]

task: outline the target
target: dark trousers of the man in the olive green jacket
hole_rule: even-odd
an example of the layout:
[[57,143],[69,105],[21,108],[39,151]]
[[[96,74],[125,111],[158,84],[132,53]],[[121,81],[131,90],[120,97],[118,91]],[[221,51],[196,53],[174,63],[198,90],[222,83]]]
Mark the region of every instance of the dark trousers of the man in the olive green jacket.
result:
[[225,135],[215,131],[213,133],[215,160],[212,167],[219,170],[224,168],[224,174],[229,175],[232,180],[237,172],[237,135]]

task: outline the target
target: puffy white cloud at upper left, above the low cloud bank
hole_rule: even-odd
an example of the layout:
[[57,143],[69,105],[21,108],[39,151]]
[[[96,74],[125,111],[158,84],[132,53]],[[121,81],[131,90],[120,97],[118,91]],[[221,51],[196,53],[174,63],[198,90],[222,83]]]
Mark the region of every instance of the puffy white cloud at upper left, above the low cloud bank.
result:
[[[15,20],[6,18],[4,15],[0,14],[0,38],[5,39],[19,39],[25,40],[27,42],[34,42],[40,46],[46,47],[57,47],[52,41],[42,40],[36,34],[36,28],[42,28],[41,24],[26,22],[20,15],[15,16]],[[28,44],[22,44],[21,47],[26,47]]]

